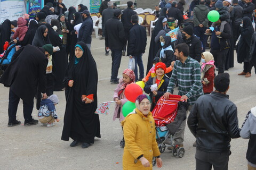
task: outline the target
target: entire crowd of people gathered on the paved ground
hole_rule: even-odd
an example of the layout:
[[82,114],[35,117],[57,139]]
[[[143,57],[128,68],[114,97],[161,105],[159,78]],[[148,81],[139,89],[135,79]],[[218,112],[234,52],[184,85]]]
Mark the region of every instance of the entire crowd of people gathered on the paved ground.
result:
[[[7,53],[6,41],[7,44],[13,41],[16,50],[0,78],[4,86],[10,87],[7,126],[21,123],[16,118],[20,99],[23,100],[24,125],[38,123],[31,116],[34,97],[39,121],[47,127],[54,126],[55,121],[59,122],[55,110],[59,99],[53,93],[65,90],[67,104],[61,139],[73,139],[70,147],[82,143],[82,148],[87,148],[95,137],[101,137],[99,116],[94,114],[98,103],[98,72],[91,53],[91,13],[83,4],[78,5],[76,12],[74,6],[67,9],[62,0],[45,3],[35,19],[29,20],[26,14],[17,21],[7,19],[0,25],[0,54]],[[190,112],[187,124],[196,138],[193,145],[196,169],[212,166],[228,169],[229,142],[240,136],[250,138],[246,158],[249,169],[256,169],[255,127],[251,125],[255,122],[255,108],[247,114],[242,130],[239,129],[237,108],[226,95],[229,74],[224,73],[234,67],[234,49],[237,62],[244,64],[244,70],[238,75],[249,78],[252,66],[256,68],[255,6],[249,0],[194,0],[185,11],[185,4],[183,0],[167,3],[161,0],[155,6],[158,21],[150,37],[146,74],[142,55],[147,46],[147,31],[138,23],[134,3],[128,1],[123,11],[110,0],[100,6],[100,39],[105,39],[105,55],[110,52],[112,59],[110,83],[118,84],[113,97],[116,103],[113,120],[119,118],[123,130],[120,142],[124,147],[123,168],[152,168],[153,156],[157,166],[162,167],[150,111],[161,97],[169,99],[178,86],[180,100],[189,105],[186,116]],[[212,10],[220,14],[215,22],[207,18]],[[178,29],[175,39],[168,34],[174,29]],[[211,48],[210,52],[207,48]],[[125,54],[134,58],[135,66],[124,70],[122,78],[118,78]],[[125,88],[137,81],[145,84],[143,90],[149,96],[138,96],[136,109],[124,117],[122,107],[128,101]],[[185,128],[186,120],[183,120],[174,134],[176,147],[183,147]]]

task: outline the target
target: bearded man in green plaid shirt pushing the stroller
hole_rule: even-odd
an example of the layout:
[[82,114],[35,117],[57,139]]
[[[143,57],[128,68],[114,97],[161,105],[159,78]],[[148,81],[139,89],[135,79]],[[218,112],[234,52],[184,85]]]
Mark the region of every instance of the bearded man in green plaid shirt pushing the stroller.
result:
[[[204,94],[201,83],[201,66],[196,60],[189,57],[189,48],[187,44],[178,44],[175,46],[174,50],[174,55],[176,56],[177,61],[174,64],[172,76],[167,87],[167,92],[164,94],[164,98],[169,99],[169,96],[173,94],[176,82],[178,82],[178,95],[181,96],[180,100],[188,102],[188,111],[190,111],[197,98]],[[186,112],[186,116],[188,111]],[[182,122],[179,129],[174,134],[174,146],[178,145],[179,147],[183,147],[185,127],[186,120]],[[195,143],[193,146],[195,146]]]

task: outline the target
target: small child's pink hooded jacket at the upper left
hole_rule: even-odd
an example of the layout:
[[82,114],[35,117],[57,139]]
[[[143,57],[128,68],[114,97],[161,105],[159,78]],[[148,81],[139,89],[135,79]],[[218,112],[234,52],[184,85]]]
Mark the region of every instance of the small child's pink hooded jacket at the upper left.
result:
[[17,23],[18,28],[12,36],[12,39],[16,39],[17,37],[19,37],[19,41],[22,41],[26,35],[26,32],[28,31],[27,20],[20,17]]

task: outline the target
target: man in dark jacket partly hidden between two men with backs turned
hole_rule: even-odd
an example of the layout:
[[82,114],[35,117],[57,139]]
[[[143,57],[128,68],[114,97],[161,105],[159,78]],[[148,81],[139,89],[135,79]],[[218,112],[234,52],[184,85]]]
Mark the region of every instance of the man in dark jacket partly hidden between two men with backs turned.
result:
[[[122,17],[121,17],[121,21],[122,21],[122,23],[124,25],[124,33],[125,33],[126,40],[128,40],[129,31],[132,28],[131,17],[132,17],[132,15],[136,15],[137,14],[132,9],[132,7],[133,7],[133,2],[132,1],[128,1],[127,2],[127,6],[128,7],[123,11],[123,14],[122,14]],[[125,42],[123,53],[122,53],[123,56],[125,56],[126,43],[127,42]]]

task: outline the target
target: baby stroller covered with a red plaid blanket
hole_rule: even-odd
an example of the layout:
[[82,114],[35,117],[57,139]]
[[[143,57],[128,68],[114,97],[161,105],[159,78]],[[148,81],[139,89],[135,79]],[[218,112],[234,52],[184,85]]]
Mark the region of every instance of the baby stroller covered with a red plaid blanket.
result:
[[173,147],[172,155],[182,158],[185,149],[173,143],[173,135],[181,123],[186,120],[188,109],[188,103],[180,101],[180,98],[179,95],[170,95],[168,100],[164,97],[160,98],[152,114],[156,124],[156,141],[159,151],[163,153],[166,147]]

